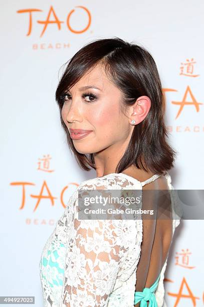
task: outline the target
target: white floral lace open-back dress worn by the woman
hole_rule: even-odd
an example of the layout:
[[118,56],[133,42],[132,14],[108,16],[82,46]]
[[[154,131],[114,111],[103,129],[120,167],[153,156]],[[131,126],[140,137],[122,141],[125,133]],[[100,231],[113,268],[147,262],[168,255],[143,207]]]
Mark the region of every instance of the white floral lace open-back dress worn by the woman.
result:
[[[142,190],[145,182],[109,174],[82,182],[70,197],[63,216],[49,237],[40,259],[45,307],[133,307],[137,264],[142,242],[142,220],[78,220],[78,190]],[[165,175],[170,190],[170,175]],[[173,191],[172,191],[173,192]],[[179,225],[176,193],[171,194],[172,230]],[[167,257],[168,258],[168,257]],[[164,301],[164,272],[155,291],[158,307]]]

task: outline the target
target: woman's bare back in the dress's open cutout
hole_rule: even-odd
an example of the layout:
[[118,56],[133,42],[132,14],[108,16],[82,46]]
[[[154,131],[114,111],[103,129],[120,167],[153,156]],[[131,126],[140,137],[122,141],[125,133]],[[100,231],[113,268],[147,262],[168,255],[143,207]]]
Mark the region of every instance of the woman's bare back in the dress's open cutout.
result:
[[[147,178],[150,177],[147,176]],[[138,180],[138,178],[135,179]],[[169,188],[165,176],[161,175],[154,181],[145,184],[142,190],[169,190]],[[146,194],[143,194],[142,209],[153,209],[154,211],[158,209],[159,218],[142,220],[143,237],[136,271],[135,291],[143,291],[145,287],[150,287],[155,282],[168,256],[172,241],[170,195],[168,200],[165,198],[165,204],[162,203],[162,199],[160,203],[152,202],[150,204],[149,197],[147,198]],[[162,218],[162,215],[165,218]],[[134,306],[140,306],[140,302]]]

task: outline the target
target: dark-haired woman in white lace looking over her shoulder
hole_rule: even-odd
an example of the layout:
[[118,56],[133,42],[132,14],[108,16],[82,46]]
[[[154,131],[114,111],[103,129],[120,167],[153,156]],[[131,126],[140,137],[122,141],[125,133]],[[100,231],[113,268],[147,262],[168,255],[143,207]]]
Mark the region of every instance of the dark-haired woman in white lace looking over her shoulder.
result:
[[[79,190],[173,190],[176,152],[166,141],[156,64],[143,47],[101,39],[69,61],[56,91],[62,126],[82,182],[46,243],[40,262],[45,306],[165,306],[164,271],[179,218],[83,220]],[[99,191],[98,191],[99,192]],[[142,209],[150,205],[142,198]],[[170,208],[170,209],[169,209]]]

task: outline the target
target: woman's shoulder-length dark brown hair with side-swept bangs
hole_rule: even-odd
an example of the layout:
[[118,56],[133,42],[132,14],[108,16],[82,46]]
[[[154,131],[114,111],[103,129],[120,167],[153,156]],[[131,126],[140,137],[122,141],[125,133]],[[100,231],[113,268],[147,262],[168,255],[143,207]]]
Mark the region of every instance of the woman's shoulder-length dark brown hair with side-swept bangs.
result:
[[166,141],[168,132],[164,124],[165,102],[159,73],[151,54],[144,47],[114,37],[85,45],[64,65],[67,63],[55,96],[69,147],[79,166],[86,171],[91,168],[96,170],[94,153],[81,154],[75,149],[62,119],[64,95],[85,73],[97,64],[102,64],[107,77],[122,93],[122,111],[127,105],[134,104],[140,96],[148,96],[151,100],[149,112],[135,125],[115,173],[122,173],[132,165],[158,175],[164,175],[171,169],[177,152]]

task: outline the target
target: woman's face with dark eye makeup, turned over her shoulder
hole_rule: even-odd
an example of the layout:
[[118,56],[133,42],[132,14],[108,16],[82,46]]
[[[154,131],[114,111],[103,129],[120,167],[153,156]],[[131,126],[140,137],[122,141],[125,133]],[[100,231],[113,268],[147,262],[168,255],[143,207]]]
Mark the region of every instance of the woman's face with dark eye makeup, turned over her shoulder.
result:
[[[82,89],[87,86],[98,89]],[[121,112],[121,99],[121,91],[99,65],[67,92],[62,118],[69,132],[70,128],[92,130],[81,139],[73,139],[78,152],[93,154],[110,146],[119,151],[124,145],[126,147],[134,126]]]

